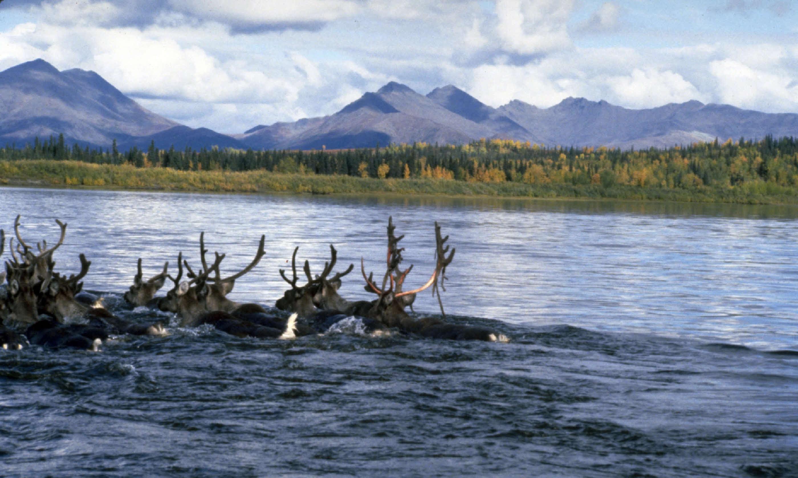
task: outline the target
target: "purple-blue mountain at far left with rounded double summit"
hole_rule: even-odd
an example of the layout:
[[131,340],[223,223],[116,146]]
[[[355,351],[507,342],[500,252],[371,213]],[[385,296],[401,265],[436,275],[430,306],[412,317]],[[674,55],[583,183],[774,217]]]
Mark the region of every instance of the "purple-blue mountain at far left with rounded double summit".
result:
[[59,134],[67,144],[93,147],[110,147],[117,139],[120,149],[148,147],[152,140],[160,148],[245,147],[227,135],[158,116],[95,72],[59,72],[43,60],[0,72],[0,146],[22,147]]

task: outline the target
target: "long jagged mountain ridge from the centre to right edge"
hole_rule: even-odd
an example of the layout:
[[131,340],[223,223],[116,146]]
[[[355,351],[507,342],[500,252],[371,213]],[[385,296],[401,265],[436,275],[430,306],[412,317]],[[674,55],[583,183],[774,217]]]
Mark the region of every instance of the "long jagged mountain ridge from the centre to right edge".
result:
[[551,108],[536,108],[519,100],[491,108],[452,85],[422,96],[391,82],[377,92],[365,93],[334,115],[259,125],[234,136],[256,149],[468,143],[480,138],[628,149],[765,135],[798,135],[798,115],[694,100],[641,110],[584,98],[567,98]]

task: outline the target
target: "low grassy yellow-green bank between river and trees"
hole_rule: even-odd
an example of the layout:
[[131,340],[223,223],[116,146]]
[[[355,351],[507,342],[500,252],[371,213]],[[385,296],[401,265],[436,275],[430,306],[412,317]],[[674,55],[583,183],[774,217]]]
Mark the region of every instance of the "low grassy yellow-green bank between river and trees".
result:
[[772,182],[690,189],[615,184],[467,182],[433,178],[358,178],[346,175],[283,174],[268,170],[174,170],[57,161],[0,161],[0,185],[104,190],[164,190],[253,194],[391,194],[492,198],[591,198],[742,204],[798,204],[798,188]]

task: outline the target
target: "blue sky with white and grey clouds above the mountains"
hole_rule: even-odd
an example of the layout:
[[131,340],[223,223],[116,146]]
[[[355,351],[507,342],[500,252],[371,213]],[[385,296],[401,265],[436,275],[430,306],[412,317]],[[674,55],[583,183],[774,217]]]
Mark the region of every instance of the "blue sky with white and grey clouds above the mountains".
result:
[[37,58],[224,133],[330,115],[389,81],[492,107],[798,112],[784,0],[0,0],[0,70]]

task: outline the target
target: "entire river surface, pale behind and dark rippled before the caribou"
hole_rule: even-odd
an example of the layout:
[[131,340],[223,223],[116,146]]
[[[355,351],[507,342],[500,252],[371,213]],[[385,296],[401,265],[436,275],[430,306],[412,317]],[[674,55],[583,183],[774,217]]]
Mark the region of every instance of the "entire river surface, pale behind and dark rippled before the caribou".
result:
[[201,231],[223,275],[265,234],[230,297],[271,306],[297,245],[315,273],[335,245],[342,296],[370,299],[389,216],[423,284],[438,221],[448,320],[512,342],[170,327],[0,351],[0,476],[798,476],[795,206],[0,189],[7,234],[17,214],[29,242],[67,222],[57,270],[85,253],[85,288],[164,321],[120,294],[138,257],[198,264]]

